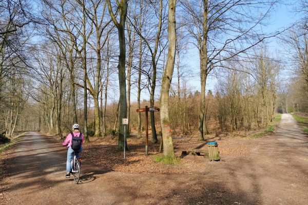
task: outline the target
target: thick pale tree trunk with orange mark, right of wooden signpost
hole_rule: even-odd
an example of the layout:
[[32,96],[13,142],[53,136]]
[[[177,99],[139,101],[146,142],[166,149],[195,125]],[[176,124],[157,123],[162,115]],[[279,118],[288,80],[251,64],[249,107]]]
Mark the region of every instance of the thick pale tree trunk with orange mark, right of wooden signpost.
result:
[[174,146],[172,141],[170,121],[169,121],[169,91],[171,79],[175,66],[175,54],[176,54],[176,0],[169,0],[168,9],[168,58],[166,68],[162,79],[161,88],[161,128],[164,144],[164,156],[174,158]]

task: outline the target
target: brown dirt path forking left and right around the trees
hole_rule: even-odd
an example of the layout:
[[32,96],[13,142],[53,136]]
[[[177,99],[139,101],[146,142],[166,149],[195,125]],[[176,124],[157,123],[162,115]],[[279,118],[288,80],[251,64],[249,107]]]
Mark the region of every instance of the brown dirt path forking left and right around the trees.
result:
[[[308,137],[283,114],[247,156],[221,155],[192,174],[104,172],[83,161],[81,184],[66,179],[66,150],[28,133],[9,160],[0,204],[307,204]],[[194,169],[194,168],[191,168]]]

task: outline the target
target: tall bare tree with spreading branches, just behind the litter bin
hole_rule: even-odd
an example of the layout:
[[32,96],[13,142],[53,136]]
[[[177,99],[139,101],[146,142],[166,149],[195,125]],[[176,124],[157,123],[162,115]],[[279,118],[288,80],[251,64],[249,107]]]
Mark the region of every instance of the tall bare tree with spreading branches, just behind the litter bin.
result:
[[[235,56],[244,56],[249,49],[269,36],[258,30],[277,1],[181,1],[186,11],[187,31],[199,50],[201,102],[198,139],[204,137],[205,86],[207,76]],[[263,9],[262,14],[256,12]],[[277,34],[275,34],[277,35]]]

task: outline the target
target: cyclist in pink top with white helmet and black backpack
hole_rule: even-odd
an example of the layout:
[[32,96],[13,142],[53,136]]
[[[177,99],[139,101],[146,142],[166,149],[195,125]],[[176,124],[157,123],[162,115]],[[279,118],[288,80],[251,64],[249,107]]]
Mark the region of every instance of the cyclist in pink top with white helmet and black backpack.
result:
[[[69,133],[66,137],[66,139],[63,142],[63,146],[67,146],[67,161],[66,161],[66,178],[70,177],[71,173],[71,161],[74,157],[74,152],[76,152],[76,157],[80,156],[80,153],[82,152],[82,145],[85,140],[85,136],[79,131],[79,125],[74,124],[72,126],[73,132]],[[73,143],[74,140],[74,143]],[[74,144],[74,145],[72,145]],[[77,145],[75,145],[77,144]],[[78,145],[79,144],[79,145]],[[72,148],[73,146],[73,148]],[[77,147],[77,148],[76,148]]]

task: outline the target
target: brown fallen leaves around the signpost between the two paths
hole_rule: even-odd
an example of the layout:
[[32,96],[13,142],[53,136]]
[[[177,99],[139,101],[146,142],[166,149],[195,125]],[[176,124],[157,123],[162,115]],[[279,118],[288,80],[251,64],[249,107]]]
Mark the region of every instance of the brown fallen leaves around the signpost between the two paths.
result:
[[[152,173],[152,174],[180,174],[204,171],[207,167],[207,156],[187,155],[180,160],[178,165],[164,165],[155,162],[155,156],[160,156],[160,144],[149,142],[149,154],[145,155],[145,140],[137,137],[127,139],[128,151],[123,159],[123,152],[117,151],[118,141],[114,139],[90,139],[89,144],[84,146],[82,158],[98,165],[102,170],[125,173]],[[196,137],[175,137],[175,153],[180,156],[182,151],[199,147],[207,149],[205,141],[198,141]],[[243,141],[243,140],[242,140]],[[238,143],[235,139],[218,140],[220,155],[244,156],[254,149],[257,144],[244,140]],[[217,162],[219,163],[219,162]]]

